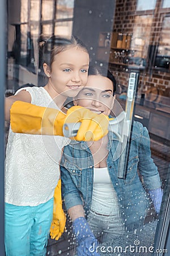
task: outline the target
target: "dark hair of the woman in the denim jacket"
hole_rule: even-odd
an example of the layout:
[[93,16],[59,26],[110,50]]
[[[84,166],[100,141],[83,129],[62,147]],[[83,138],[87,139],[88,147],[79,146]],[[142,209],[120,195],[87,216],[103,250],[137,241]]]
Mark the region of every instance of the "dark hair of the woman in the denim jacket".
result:
[[116,79],[112,75],[111,71],[109,71],[109,69],[105,67],[90,65],[88,69],[88,76],[93,76],[93,75],[108,77],[108,79],[110,79],[113,83],[113,96],[114,96],[114,93],[116,91]]

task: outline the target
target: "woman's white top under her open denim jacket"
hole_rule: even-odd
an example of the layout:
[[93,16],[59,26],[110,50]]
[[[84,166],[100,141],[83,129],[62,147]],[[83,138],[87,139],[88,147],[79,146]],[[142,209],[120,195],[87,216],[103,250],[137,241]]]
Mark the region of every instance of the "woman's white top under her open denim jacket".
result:
[[94,187],[91,210],[96,213],[118,216],[118,201],[108,168],[94,168]]

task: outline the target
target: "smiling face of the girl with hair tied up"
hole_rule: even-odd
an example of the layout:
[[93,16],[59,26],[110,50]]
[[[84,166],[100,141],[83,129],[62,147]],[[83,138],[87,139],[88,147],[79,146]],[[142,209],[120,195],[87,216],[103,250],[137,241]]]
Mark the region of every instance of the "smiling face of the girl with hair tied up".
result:
[[75,97],[87,83],[89,55],[79,47],[70,47],[54,57],[51,69],[44,64],[48,87],[55,96]]

